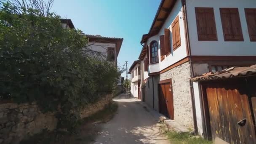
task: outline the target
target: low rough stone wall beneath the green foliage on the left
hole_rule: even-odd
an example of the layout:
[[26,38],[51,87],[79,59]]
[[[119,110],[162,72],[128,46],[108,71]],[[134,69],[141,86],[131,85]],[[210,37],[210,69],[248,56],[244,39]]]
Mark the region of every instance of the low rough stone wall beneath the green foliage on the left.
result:
[[[81,118],[88,117],[104,109],[112,101],[112,95],[106,95],[95,104],[89,104]],[[0,144],[18,144],[43,129],[53,131],[58,120],[55,112],[42,113],[34,102],[32,104],[0,104]]]

